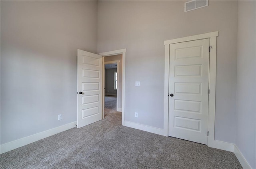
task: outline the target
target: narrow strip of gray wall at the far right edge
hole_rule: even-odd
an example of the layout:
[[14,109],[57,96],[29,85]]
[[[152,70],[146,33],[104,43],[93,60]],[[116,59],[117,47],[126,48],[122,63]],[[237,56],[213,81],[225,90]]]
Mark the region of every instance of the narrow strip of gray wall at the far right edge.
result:
[[253,169],[256,168],[255,6],[255,1],[238,2],[236,87],[236,145]]

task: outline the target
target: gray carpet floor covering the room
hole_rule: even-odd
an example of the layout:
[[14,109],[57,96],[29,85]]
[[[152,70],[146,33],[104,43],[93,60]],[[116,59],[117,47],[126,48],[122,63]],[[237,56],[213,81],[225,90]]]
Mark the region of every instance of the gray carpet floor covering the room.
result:
[[234,153],[124,127],[120,112],[3,153],[1,169],[242,169]]

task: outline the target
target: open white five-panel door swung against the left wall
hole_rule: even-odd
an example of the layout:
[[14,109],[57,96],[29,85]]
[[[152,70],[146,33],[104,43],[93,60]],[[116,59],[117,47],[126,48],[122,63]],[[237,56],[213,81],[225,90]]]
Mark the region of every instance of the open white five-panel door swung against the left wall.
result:
[[77,53],[77,128],[80,128],[102,119],[102,56],[83,50]]

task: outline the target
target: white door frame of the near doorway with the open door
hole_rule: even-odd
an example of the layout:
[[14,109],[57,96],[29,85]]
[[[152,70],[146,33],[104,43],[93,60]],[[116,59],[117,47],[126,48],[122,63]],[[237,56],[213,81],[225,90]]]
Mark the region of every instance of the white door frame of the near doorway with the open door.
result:
[[[113,56],[113,55],[119,55],[119,54],[122,54],[122,125],[124,125],[124,110],[125,110],[125,54],[126,54],[126,48],[125,49],[120,49],[120,50],[113,50],[113,51],[109,51],[109,52],[99,53],[99,55],[103,56],[102,63],[105,62],[104,57],[106,57],[106,56]],[[104,64],[102,64],[102,67],[103,66],[104,66]],[[103,91],[103,89],[102,89],[102,91]],[[102,95],[102,97],[104,97],[104,95]],[[102,98],[102,99],[104,99],[104,98]],[[104,105],[103,101],[102,101],[102,103]]]

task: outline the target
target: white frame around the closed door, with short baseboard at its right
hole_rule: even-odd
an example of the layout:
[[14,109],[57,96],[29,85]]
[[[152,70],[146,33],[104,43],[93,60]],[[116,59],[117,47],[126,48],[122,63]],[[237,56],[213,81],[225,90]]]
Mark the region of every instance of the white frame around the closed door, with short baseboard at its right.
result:
[[210,63],[209,63],[209,106],[208,106],[208,146],[218,149],[232,150],[232,146],[228,143],[217,141],[214,139],[215,132],[215,95],[216,95],[216,46],[217,46],[218,31],[210,32],[206,34],[188,36],[184,38],[178,38],[173,40],[164,41],[165,45],[165,65],[164,65],[164,134],[168,136],[168,92],[169,92],[169,50],[170,44],[188,42],[193,40],[210,38]]

